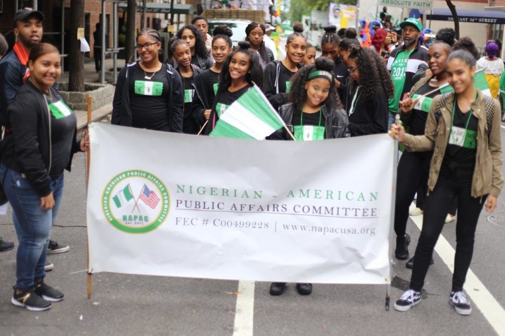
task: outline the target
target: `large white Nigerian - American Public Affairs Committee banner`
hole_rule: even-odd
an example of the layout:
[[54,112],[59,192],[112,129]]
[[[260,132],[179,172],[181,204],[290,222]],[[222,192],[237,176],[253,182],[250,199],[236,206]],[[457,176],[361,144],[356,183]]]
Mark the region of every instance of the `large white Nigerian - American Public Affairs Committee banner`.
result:
[[388,284],[394,142],[92,124],[92,272]]

